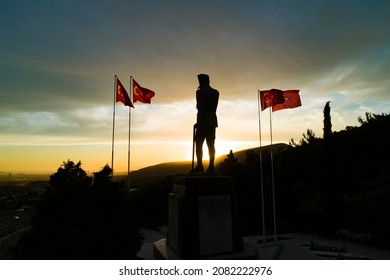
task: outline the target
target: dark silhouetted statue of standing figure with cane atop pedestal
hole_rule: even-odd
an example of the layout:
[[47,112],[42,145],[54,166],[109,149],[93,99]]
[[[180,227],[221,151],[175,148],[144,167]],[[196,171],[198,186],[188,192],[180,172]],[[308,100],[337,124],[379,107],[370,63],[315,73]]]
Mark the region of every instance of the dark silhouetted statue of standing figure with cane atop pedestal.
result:
[[218,127],[217,106],[219,92],[210,86],[209,76],[199,74],[199,87],[196,91],[196,108],[198,110],[196,124],[194,125],[194,142],[196,146],[195,172],[204,172],[203,168],[203,143],[206,140],[209,150],[209,166],[207,172],[214,172],[215,159],[215,129]]

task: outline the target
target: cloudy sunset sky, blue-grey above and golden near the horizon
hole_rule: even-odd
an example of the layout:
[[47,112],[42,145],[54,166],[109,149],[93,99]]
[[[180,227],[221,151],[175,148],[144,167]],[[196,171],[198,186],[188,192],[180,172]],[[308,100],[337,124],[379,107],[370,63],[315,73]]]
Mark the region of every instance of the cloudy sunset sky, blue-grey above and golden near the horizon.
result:
[[[300,90],[301,107],[272,114],[274,143],[322,137],[327,101],[333,131],[388,114],[389,15],[387,0],[1,1],[0,172],[111,164],[115,75],[156,93],[132,110],[132,170],[191,159],[199,73],[220,92],[218,155],[259,145],[258,90]],[[117,103],[117,172],[127,137]]]

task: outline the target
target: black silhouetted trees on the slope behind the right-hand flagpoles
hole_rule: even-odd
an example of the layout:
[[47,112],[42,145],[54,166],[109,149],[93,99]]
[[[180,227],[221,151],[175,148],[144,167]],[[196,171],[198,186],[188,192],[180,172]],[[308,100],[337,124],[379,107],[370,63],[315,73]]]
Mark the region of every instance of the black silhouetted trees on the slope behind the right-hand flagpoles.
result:
[[[359,122],[359,127],[332,133],[332,150],[308,129],[298,144],[291,141],[288,149],[274,154],[279,233],[304,231],[390,245],[390,115],[367,113]],[[262,163],[265,222],[267,233],[272,233],[266,151]],[[259,155],[248,152],[242,164],[228,155],[219,170],[235,178],[244,233],[261,232]]]

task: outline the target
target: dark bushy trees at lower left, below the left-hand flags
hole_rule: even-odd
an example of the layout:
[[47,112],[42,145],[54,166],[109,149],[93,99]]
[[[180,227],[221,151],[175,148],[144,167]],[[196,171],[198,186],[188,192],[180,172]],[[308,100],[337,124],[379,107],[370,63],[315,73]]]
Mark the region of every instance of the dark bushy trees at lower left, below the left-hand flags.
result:
[[13,251],[16,259],[137,259],[139,229],[138,212],[109,166],[92,178],[69,160],[50,176],[32,227]]

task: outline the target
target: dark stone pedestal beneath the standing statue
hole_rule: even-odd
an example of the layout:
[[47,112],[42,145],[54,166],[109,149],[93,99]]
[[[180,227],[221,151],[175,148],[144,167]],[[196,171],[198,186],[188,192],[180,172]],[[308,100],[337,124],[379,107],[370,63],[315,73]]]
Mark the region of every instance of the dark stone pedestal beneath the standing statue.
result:
[[182,259],[244,250],[230,177],[175,178],[166,243]]

